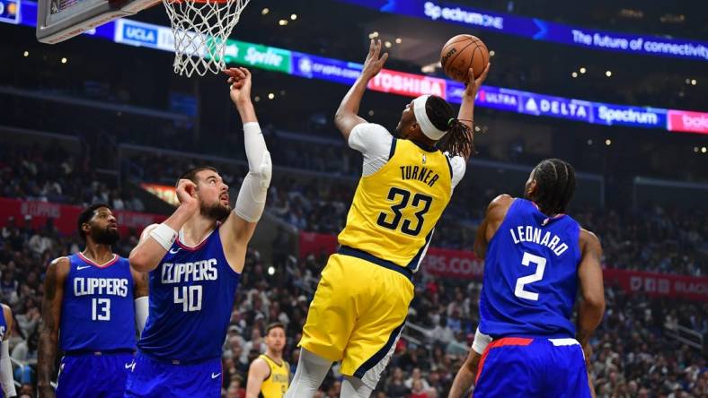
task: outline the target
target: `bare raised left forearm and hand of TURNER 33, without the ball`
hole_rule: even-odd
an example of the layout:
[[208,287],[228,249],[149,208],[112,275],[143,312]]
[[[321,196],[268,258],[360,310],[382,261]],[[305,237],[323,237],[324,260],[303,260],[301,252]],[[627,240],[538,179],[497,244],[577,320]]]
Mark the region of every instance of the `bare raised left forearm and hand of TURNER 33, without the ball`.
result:
[[379,57],[381,54],[381,40],[371,39],[368,47],[367,60],[364,61],[364,67],[361,69],[357,81],[351,86],[350,91],[341,100],[340,108],[334,115],[334,124],[340,130],[345,141],[349,141],[351,129],[355,125],[367,123],[364,118],[358,116],[358,107],[361,104],[361,99],[364,97],[364,92],[367,91],[368,81],[373,79],[376,74],[381,72],[384,67],[388,53]]

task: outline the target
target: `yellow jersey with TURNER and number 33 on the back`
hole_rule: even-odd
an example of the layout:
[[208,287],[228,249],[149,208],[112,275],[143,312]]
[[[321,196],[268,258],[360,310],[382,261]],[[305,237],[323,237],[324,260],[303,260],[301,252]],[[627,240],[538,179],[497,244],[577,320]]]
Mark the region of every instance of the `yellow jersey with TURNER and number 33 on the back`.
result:
[[450,201],[452,170],[441,151],[396,140],[392,156],[361,177],[339,243],[416,271]]

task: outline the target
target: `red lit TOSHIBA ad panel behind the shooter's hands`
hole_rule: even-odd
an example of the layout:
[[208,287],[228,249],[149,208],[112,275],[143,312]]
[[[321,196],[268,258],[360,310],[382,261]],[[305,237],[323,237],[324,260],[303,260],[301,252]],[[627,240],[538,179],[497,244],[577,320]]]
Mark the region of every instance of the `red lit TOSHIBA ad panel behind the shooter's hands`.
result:
[[368,82],[368,88],[374,91],[383,91],[399,94],[406,97],[420,95],[437,95],[447,99],[447,82],[437,77],[422,74],[404,74],[390,69],[382,69],[376,77]]

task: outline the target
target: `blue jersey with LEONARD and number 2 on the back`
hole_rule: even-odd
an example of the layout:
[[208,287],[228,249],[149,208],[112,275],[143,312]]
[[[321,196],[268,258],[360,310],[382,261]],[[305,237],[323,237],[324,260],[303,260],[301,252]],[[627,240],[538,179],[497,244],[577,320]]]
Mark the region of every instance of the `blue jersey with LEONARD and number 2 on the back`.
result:
[[491,238],[484,262],[480,332],[503,336],[573,337],[580,225],[549,218],[515,199]]

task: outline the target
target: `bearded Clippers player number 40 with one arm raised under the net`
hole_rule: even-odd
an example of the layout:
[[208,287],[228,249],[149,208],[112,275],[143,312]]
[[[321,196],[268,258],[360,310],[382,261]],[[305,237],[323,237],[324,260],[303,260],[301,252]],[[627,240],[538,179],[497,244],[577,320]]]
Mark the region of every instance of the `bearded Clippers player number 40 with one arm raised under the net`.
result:
[[251,102],[251,74],[245,68],[226,74],[250,170],[233,211],[217,169],[186,172],[177,183],[180,206],[164,223],[148,227],[130,253],[130,265],[150,273],[150,316],[126,396],[221,396],[221,347],[271,173]]

